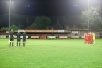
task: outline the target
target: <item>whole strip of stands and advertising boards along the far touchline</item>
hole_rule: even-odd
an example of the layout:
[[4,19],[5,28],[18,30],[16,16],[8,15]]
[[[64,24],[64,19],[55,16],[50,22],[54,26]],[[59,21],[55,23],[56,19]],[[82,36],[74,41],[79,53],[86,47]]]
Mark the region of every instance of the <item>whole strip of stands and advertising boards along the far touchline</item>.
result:
[[[88,33],[87,29],[69,29],[69,30],[23,30],[27,33],[27,38],[31,39],[69,39],[84,38],[84,33]],[[14,31],[16,38],[17,31]],[[22,30],[20,30],[22,32]],[[8,38],[8,31],[0,30],[0,38]],[[102,38],[102,32],[94,32],[96,38]]]

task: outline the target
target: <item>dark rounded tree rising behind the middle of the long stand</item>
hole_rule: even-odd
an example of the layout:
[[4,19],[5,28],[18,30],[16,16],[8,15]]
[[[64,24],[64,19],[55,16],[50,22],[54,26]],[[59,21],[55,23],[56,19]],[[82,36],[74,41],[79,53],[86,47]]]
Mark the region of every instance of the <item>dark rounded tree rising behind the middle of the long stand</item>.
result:
[[34,23],[36,24],[37,29],[46,29],[46,27],[49,25],[50,22],[51,22],[51,19],[49,17],[38,16],[38,17],[36,17]]

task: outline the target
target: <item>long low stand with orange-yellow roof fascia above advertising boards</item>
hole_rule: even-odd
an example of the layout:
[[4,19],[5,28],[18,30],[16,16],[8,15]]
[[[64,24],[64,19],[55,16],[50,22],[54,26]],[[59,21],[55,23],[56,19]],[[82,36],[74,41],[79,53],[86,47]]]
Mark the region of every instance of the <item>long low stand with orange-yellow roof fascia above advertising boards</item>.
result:
[[25,30],[32,39],[67,39],[70,31],[68,30]]

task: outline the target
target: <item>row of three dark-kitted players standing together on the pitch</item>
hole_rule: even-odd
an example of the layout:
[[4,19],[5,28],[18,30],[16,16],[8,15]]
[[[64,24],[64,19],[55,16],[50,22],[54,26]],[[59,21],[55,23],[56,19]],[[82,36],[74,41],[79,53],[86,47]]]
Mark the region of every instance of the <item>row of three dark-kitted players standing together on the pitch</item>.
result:
[[[16,46],[20,46],[20,41],[21,41],[20,36],[21,36],[21,33],[18,32],[18,33],[16,34],[16,36],[17,36]],[[23,32],[23,33],[22,33],[22,36],[23,36],[23,38],[22,38],[23,46],[25,46],[25,45],[26,45],[26,33]],[[9,43],[10,43],[10,46],[14,46],[14,32],[13,32],[13,30],[11,30],[11,32],[9,33]]]

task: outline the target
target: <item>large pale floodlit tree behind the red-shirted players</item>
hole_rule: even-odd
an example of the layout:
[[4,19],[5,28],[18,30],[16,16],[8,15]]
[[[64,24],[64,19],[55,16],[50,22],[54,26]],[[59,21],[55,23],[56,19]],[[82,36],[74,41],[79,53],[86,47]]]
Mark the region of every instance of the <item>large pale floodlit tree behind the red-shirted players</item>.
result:
[[[81,25],[82,28],[88,28],[89,30],[99,30],[102,28],[102,19],[99,15],[99,7],[90,7],[89,11],[85,10],[82,12]],[[89,18],[89,23],[88,23]]]

